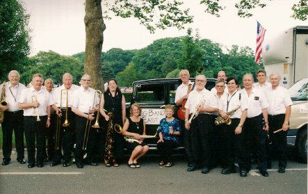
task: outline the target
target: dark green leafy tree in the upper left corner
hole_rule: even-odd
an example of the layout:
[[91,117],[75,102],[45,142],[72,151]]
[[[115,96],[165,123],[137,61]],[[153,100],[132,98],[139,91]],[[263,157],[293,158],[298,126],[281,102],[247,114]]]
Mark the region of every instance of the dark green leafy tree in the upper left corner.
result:
[[29,15],[17,0],[0,1],[0,80],[19,70],[30,52]]

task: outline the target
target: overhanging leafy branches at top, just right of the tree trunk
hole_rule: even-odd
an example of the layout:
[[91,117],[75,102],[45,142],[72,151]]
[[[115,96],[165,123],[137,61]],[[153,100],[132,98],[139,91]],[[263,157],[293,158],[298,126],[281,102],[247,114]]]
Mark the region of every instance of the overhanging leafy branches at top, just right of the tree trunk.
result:
[[171,26],[184,29],[184,24],[193,22],[193,16],[188,14],[189,9],[182,9],[182,4],[183,2],[178,0],[104,1],[104,7],[107,9],[104,17],[111,19],[111,12],[123,18],[135,17],[151,33],[156,29]]

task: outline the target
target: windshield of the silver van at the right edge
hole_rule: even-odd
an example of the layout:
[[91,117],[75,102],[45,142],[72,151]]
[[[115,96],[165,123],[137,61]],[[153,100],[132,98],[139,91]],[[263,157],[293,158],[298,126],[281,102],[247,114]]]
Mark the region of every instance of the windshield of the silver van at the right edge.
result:
[[291,88],[289,88],[289,93],[293,101],[308,100],[308,78],[302,79],[294,83]]

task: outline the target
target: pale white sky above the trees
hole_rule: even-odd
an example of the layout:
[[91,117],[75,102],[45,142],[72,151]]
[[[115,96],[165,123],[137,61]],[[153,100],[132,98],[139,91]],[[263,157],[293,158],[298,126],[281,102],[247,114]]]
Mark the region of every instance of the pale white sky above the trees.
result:
[[[72,55],[85,50],[86,31],[83,23],[85,0],[24,0],[24,8],[29,13],[31,29],[31,56],[38,51],[55,51],[62,55]],[[104,1],[104,0],[102,0]],[[106,1],[106,0],[105,0]],[[109,1],[109,0],[107,0]],[[186,35],[188,28],[198,29],[200,38],[208,38],[222,45],[223,49],[232,45],[255,49],[257,38],[257,21],[266,28],[265,38],[273,38],[275,34],[292,26],[307,26],[291,18],[291,6],[297,0],[272,0],[266,8],[252,11],[250,18],[236,15],[234,4],[239,0],[222,0],[226,10],[220,17],[204,13],[200,0],[185,0],[184,6],[191,9],[194,22],[185,29],[170,28],[149,33],[137,19],[112,17],[104,20],[104,44],[102,51],[111,48],[141,49],[160,38],[172,38]],[[103,8],[104,9],[104,8]]]

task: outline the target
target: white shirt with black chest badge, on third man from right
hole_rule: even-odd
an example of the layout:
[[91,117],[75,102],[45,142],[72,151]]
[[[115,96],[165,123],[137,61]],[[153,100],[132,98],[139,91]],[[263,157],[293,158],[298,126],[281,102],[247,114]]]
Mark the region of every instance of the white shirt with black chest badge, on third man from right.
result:
[[257,115],[260,115],[262,113],[262,109],[268,107],[268,101],[266,100],[266,97],[264,95],[264,92],[262,92],[262,90],[252,88],[249,97],[245,88],[241,90],[241,92],[242,95],[245,97],[245,99],[247,99],[248,118],[254,118]]

